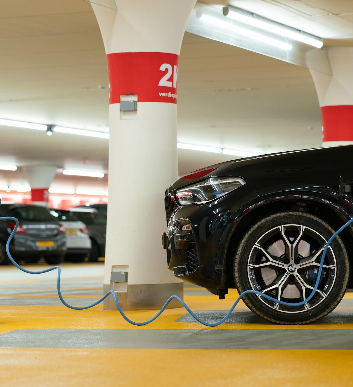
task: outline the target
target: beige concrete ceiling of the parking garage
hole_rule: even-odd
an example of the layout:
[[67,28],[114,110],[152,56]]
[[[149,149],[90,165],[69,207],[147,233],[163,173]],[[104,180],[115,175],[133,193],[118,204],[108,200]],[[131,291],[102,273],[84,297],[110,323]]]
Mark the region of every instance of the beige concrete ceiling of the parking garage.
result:
[[[230,3],[322,36],[326,45],[352,45],[351,0]],[[106,58],[90,4],[0,2],[0,84],[0,118],[107,130]],[[48,137],[1,126],[0,136],[0,163],[108,167],[104,139]],[[186,33],[178,70],[178,140],[259,153],[321,146],[319,103],[309,70]],[[179,174],[232,158],[179,149]],[[18,178],[26,179],[21,168],[0,173],[1,184]],[[107,180],[58,174],[53,185],[106,190]]]

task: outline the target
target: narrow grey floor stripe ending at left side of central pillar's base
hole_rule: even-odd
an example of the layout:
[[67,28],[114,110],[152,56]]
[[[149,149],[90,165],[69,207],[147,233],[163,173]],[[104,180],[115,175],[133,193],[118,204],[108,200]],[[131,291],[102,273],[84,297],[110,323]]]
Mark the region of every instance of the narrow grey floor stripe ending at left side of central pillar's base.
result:
[[[70,305],[73,306],[83,306],[83,305],[89,305],[94,303],[95,301],[99,300],[102,295],[97,295],[95,297],[84,297],[84,298],[78,298],[78,297],[67,297],[63,295],[63,298],[65,301],[67,301]],[[55,306],[55,305],[63,305],[61,301],[59,300],[59,297],[43,297],[43,298],[31,298],[31,297],[0,297],[0,306],[3,305],[43,305],[43,306]]]

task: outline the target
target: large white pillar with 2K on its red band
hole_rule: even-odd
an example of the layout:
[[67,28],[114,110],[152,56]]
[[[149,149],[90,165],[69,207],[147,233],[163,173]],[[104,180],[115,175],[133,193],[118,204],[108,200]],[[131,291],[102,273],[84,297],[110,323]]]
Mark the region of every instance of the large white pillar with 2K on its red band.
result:
[[[160,308],[183,294],[182,282],[167,270],[161,241],[164,192],[177,179],[178,58],[195,2],[121,0],[118,10],[92,4],[110,94],[104,293],[114,289],[126,310]],[[116,309],[112,297],[104,308]]]

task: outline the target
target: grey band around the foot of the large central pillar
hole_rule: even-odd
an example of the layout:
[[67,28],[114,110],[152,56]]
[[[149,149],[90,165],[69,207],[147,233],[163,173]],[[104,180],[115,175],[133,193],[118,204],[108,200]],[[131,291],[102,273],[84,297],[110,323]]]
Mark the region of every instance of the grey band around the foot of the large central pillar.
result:
[[[103,294],[109,290],[112,290],[112,285],[103,284]],[[160,309],[172,295],[179,296],[183,300],[183,283],[128,285],[127,292],[117,291],[116,295],[123,310]],[[177,300],[172,300],[167,306],[167,308],[179,307],[181,304]],[[103,301],[103,308],[118,309],[112,295]]]

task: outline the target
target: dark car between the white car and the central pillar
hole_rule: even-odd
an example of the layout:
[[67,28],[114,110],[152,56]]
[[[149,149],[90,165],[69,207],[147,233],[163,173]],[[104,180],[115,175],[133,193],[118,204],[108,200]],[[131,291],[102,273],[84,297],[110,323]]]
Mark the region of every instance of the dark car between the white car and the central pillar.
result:
[[90,261],[97,261],[98,257],[104,257],[106,253],[107,217],[96,209],[89,207],[74,207],[70,211],[88,228],[92,242]]

